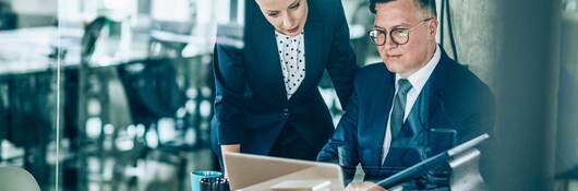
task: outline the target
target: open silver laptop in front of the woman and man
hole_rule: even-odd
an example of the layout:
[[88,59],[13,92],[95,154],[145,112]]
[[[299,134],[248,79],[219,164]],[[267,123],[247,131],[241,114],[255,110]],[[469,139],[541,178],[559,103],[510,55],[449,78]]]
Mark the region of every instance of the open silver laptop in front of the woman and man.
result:
[[225,153],[231,190],[344,191],[341,168],[335,164]]

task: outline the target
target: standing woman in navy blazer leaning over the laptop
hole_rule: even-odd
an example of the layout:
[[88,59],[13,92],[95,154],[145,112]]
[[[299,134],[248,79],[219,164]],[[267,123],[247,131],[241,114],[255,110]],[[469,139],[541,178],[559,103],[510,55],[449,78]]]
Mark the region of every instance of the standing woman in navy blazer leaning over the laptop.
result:
[[242,152],[314,160],[335,129],[317,89],[323,72],[346,106],[358,69],[341,2],[248,5],[244,48],[215,47],[213,148],[219,158]]

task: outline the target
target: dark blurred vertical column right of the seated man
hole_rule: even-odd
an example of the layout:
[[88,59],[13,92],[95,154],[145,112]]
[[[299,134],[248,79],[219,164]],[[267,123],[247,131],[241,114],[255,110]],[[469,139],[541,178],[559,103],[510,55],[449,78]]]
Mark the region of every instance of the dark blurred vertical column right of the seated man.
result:
[[501,1],[496,190],[553,190],[559,0]]

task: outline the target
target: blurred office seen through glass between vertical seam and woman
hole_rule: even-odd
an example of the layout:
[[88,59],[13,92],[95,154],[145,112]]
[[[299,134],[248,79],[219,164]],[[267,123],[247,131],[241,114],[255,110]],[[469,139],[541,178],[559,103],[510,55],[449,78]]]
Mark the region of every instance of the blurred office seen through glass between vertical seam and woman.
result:
[[214,168],[224,1],[61,1],[61,190],[190,190],[190,171]]

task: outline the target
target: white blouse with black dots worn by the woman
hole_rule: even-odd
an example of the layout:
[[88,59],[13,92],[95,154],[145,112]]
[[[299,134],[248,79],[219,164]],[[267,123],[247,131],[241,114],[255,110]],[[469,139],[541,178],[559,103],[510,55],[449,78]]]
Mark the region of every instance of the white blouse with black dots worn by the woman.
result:
[[287,92],[287,99],[297,92],[303,79],[305,79],[305,46],[303,45],[303,32],[297,36],[284,35],[275,32],[277,49],[281,61],[281,71]]

